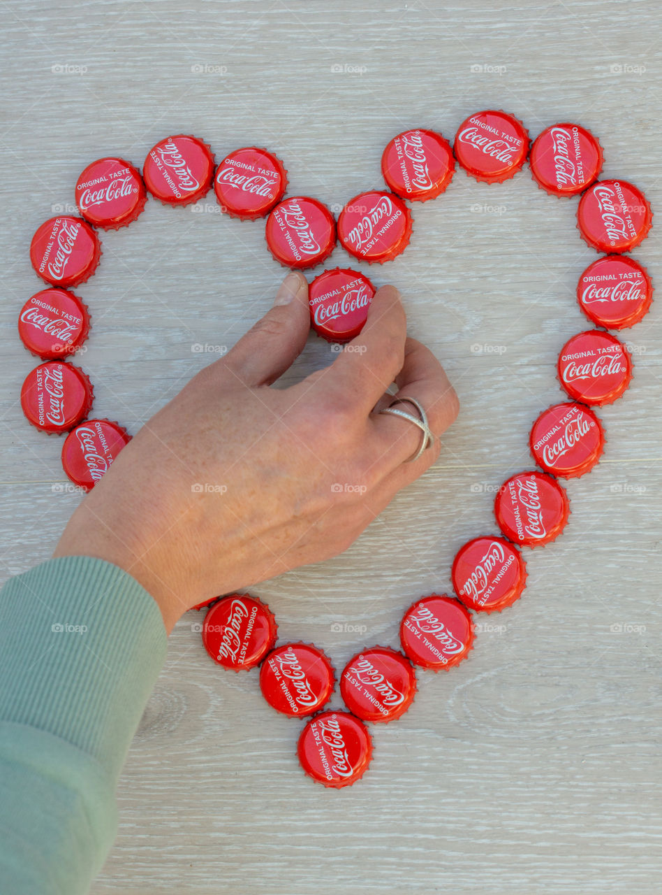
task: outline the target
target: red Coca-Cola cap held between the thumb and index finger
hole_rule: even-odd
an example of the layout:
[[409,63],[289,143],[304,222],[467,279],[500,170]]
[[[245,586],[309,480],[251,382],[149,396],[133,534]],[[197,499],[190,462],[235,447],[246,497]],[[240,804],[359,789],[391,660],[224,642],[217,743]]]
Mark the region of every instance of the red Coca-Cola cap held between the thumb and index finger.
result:
[[357,270],[324,270],[308,290],[311,326],[329,342],[348,342],[364,328],[374,292]]

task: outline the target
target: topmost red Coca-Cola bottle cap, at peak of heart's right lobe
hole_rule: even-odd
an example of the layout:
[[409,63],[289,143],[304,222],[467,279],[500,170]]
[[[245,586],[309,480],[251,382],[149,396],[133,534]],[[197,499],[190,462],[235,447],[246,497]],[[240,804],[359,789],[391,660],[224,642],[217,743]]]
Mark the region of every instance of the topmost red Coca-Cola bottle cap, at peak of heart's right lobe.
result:
[[467,174],[486,183],[501,183],[524,165],[529,132],[515,115],[487,109],[460,124],[453,151]]

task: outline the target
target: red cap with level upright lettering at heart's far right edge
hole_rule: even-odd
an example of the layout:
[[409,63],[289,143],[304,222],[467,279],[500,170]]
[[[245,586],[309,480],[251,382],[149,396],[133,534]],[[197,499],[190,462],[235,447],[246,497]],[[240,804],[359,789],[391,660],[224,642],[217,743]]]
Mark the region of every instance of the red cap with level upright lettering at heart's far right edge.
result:
[[577,284],[577,301],[589,320],[600,327],[633,327],[649,312],[653,284],[646,268],[626,255],[606,255],[584,270]]

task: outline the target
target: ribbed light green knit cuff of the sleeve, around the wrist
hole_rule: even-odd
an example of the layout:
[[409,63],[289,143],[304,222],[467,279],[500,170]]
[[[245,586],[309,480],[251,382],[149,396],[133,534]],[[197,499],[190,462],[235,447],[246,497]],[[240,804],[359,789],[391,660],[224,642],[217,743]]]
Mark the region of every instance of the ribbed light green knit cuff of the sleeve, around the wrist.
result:
[[62,737],[117,780],[166,645],[160,609],[122,568],[48,559],[0,591],[0,720]]

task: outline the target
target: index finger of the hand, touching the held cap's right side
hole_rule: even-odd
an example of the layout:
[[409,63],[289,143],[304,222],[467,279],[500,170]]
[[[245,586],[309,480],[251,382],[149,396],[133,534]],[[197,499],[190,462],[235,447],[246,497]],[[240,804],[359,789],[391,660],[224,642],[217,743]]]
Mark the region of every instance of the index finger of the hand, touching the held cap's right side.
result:
[[370,413],[402,367],[406,316],[395,286],[381,286],[374,294],[361,333],[340,352],[323,375],[323,388],[356,408]]

